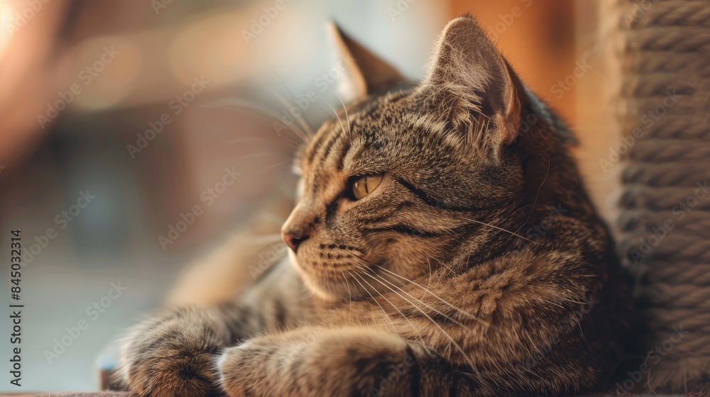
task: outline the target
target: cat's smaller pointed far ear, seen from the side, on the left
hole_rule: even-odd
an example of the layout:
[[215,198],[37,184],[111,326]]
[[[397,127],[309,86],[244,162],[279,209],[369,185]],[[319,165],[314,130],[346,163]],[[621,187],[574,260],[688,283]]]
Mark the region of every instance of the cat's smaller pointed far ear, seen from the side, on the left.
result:
[[348,101],[391,89],[405,80],[397,69],[350,38],[335,23],[328,23],[327,31],[337,50],[336,67],[344,75],[339,91]]

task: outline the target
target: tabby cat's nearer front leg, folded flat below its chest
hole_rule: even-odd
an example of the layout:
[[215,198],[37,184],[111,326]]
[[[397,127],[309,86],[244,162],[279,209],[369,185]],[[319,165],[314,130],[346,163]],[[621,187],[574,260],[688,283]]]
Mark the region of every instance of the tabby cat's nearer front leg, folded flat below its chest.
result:
[[367,328],[263,335],[227,349],[217,365],[231,397],[434,396],[452,385],[420,346]]

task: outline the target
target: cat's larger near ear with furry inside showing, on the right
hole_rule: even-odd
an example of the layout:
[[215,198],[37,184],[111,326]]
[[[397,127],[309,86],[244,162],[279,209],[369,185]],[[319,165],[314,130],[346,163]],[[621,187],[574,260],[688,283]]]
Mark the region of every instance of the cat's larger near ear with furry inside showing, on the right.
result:
[[447,123],[493,155],[517,138],[519,80],[474,18],[444,28],[423,84],[445,105]]

